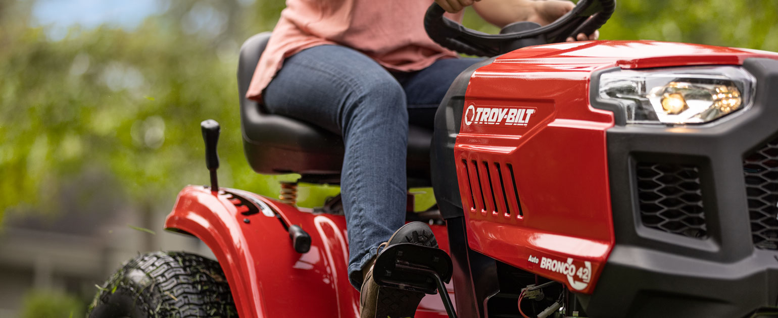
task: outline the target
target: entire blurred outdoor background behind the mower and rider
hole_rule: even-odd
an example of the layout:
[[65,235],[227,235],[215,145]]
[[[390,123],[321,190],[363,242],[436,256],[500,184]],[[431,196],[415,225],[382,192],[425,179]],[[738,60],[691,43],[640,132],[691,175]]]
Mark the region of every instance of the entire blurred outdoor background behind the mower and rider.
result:
[[[0,317],[83,316],[138,253],[209,255],[161,229],[177,191],[208,182],[204,119],[222,124],[223,186],[275,196],[295,179],[247,166],[235,81],[240,44],[283,7],[0,0]],[[498,31],[471,9],[464,24]],[[778,12],[775,0],[619,0],[601,38],[778,51]],[[303,187],[300,204],[334,191]]]

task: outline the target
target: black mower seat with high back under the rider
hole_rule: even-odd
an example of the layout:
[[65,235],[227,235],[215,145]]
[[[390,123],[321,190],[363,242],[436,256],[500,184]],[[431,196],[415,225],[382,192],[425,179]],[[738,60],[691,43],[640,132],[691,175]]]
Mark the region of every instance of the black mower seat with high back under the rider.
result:
[[[269,39],[269,32],[259,33],[240,47],[240,127],[249,165],[258,173],[300,173],[304,179],[339,175],[344,150],[341,136],[293,118],[267,114],[260,103],[246,98]],[[431,141],[429,129],[408,129],[408,182],[415,187],[429,186]]]

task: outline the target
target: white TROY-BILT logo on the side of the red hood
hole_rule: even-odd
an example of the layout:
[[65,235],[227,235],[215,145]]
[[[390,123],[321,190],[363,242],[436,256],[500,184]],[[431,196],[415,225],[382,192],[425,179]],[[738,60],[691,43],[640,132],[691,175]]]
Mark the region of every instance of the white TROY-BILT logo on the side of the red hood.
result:
[[468,126],[471,124],[495,124],[526,127],[534,112],[534,108],[527,107],[482,107],[470,104],[468,109],[464,110],[464,124]]

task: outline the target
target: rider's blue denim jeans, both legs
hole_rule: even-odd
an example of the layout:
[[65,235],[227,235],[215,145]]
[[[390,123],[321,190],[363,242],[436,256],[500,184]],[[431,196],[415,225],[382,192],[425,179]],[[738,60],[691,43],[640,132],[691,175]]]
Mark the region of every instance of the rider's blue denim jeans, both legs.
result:
[[408,121],[432,128],[454,78],[477,61],[449,58],[391,73],[359,51],[323,45],[287,58],[265,89],[268,112],[343,136],[341,196],[355,288],[378,245],[405,224]]

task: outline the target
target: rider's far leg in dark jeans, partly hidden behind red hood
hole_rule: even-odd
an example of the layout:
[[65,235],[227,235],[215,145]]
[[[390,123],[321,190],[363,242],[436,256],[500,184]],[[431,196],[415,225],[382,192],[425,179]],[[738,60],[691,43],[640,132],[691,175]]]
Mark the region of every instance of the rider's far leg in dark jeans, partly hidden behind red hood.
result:
[[465,68],[482,60],[447,58],[438,60],[418,72],[395,74],[405,89],[410,124],[433,129],[435,112],[451,83]]

